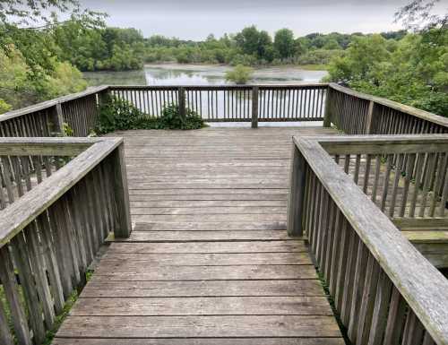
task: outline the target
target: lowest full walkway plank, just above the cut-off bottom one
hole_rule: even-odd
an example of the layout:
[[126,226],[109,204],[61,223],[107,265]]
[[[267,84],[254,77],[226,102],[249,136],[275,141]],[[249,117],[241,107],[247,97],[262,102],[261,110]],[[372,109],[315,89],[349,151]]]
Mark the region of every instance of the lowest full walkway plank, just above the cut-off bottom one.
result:
[[333,316],[68,316],[58,337],[339,337]]

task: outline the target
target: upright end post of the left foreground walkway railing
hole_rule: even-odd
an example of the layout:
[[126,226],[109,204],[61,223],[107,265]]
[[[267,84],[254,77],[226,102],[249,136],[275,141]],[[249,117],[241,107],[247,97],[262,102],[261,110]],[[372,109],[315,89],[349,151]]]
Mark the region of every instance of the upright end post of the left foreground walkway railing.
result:
[[131,211],[129,206],[129,191],[125,164],[125,146],[122,142],[113,153],[114,190],[116,201],[116,238],[127,238],[131,235]]

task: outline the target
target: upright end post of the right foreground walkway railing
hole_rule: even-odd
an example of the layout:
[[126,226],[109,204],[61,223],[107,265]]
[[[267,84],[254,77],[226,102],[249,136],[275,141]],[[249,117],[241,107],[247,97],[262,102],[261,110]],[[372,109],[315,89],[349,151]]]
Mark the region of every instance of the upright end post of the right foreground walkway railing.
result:
[[290,185],[288,198],[288,222],[289,236],[303,236],[303,211],[305,202],[306,161],[296,144],[292,148],[292,160],[290,168]]

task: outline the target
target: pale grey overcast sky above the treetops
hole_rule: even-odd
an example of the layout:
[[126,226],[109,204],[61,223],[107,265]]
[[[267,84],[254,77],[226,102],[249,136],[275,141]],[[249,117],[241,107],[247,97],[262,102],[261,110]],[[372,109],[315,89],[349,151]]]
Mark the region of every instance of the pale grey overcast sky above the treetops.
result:
[[[410,0],[82,0],[91,10],[109,14],[108,25],[134,27],[145,37],[180,39],[220,37],[255,24],[270,33],[289,28],[297,36],[311,32],[399,30],[393,13]],[[448,0],[442,0],[447,4]],[[440,7],[445,7],[442,4]]]

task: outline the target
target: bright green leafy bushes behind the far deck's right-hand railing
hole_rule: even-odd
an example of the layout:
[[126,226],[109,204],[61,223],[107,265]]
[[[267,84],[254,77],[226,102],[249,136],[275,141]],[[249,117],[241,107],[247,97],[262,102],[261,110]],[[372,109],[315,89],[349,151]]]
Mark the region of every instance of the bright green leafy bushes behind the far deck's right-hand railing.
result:
[[328,81],[448,116],[448,30],[354,40],[332,59]]

